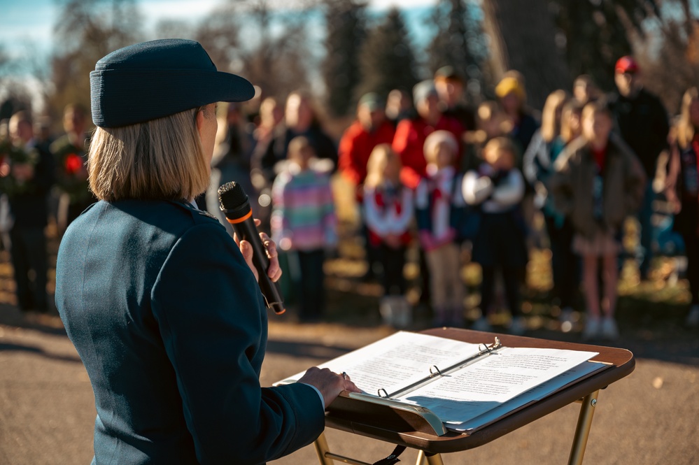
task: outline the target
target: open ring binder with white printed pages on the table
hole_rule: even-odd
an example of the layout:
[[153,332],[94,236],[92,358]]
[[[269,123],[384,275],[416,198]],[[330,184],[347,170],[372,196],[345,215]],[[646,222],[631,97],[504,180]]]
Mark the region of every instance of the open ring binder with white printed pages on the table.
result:
[[[414,413],[438,435],[471,433],[577,380],[607,368],[598,352],[472,344],[400,331],[321,364],[346,372],[364,393],[347,399]],[[277,384],[295,382],[297,373]],[[362,408],[362,410],[367,410]],[[445,429],[446,428],[446,429]]]

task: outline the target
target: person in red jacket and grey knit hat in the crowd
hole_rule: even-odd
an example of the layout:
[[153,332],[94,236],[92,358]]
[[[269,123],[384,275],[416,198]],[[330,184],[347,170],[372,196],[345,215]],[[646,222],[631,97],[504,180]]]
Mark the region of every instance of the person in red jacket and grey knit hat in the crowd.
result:
[[427,162],[425,162],[423,146],[427,136],[439,129],[451,132],[459,141],[459,150],[454,160],[455,166],[459,166],[462,150],[461,136],[466,129],[456,118],[442,114],[442,110],[439,109],[437,89],[432,80],[424,80],[415,85],[413,100],[418,116],[398,123],[393,138],[393,150],[400,155],[403,163],[401,180],[411,189],[415,189],[426,174]]

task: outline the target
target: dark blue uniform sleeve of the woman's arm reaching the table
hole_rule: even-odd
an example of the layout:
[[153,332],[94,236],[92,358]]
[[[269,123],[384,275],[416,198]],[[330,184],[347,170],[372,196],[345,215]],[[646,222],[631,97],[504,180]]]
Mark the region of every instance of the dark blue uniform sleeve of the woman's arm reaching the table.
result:
[[323,431],[311,387],[260,387],[267,317],[258,289],[224,229],[202,224],[177,241],[151,292],[201,464],[259,464]]

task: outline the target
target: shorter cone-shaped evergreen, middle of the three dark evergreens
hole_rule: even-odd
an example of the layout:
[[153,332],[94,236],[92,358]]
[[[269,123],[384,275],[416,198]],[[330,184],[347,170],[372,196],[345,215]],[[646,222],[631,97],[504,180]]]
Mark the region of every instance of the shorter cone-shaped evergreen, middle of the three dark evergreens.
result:
[[381,24],[369,31],[361,50],[362,82],[355,98],[366,92],[386,97],[393,89],[409,94],[418,82],[416,59],[400,10],[391,8]]

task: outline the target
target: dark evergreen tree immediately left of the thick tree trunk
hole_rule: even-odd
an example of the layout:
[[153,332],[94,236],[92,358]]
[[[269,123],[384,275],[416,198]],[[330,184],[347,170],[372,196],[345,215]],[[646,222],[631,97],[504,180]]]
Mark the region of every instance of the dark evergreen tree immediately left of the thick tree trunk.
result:
[[472,1],[439,0],[429,20],[437,32],[426,50],[432,74],[450,65],[462,78],[478,84],[471,86],[472,93],[480,92],[481,64],[487,55],[479,13]]

